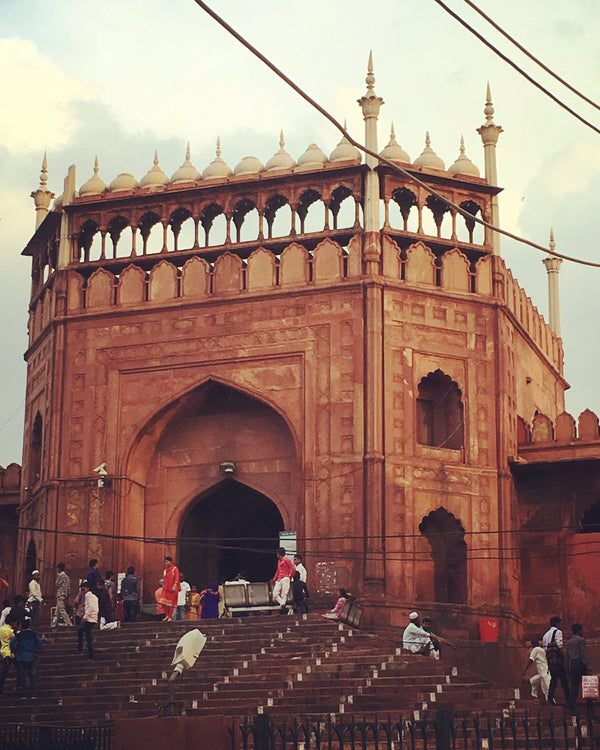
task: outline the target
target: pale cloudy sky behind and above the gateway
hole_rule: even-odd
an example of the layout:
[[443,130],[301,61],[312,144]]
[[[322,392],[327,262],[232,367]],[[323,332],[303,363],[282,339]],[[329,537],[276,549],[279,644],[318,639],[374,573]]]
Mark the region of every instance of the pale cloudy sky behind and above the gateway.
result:
[[[541,83],[600,125],[600,112],[553,82],[486,26],[463,0],[447,0]],[[597,0],[480,0],[480,7],[549,67],[600,102]],[[600,136],[561,110],[472,37],[434,0],[212,0],[212,7],[363,137],[356,99],[373,50],[376,92],[385,105],[380,146],[393,122],[415,159],[425,131],[446,165],[467,155],[483,172],[487,81],[498,146],[501,224],[557,250],[600,261]],[[44,151],[57,195],[70,164],[77,185],[94,157],[109,183],[138,179],[157,148],[172,174],[192,147],[202,171],[217,136],[234,167],[246,155],[264,163],[278,149],[298,158],[311,142],[330,153],[339,134],[227,35],[193,0],[1,0],[0,2],[0,465],[21,460],[29,263],[20,256],[34,229],[33,201]],[[546,314],[541,254],[503,241],[520,283]],[[600,269],[564,263],[560,274],[567,409],[600,413]]]

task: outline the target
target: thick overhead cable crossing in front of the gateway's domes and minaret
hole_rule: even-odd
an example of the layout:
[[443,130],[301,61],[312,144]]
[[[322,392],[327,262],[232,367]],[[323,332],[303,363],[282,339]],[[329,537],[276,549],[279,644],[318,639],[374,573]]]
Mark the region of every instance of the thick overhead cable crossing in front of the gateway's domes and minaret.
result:
[[[437,2],[438,0],[436,0]],[[474,221],[477,224],[481,224],[483,227],[487,227],[493,232],[498,232],[498,234],[503,235],[504,237],[509,237],[512,240],[515,240],[516,242],[520,242],[524,245],[528,245],[529,247],[533,247],[535,250],[539,250],[545,255],[552,255],[556,258],[561,258],[562,260],[570,261],[571,263],[578,263],[580,265],[584,266],[590,266],[592,268],[600,268],[600,263],[595,263],[591,260],[583,260],[582,258],[575,258],[571,255],[564,255],[563,253],[557,253],[555,250],[550,250],[547,247],[544,247],[543,245],[538,245],[536,242],[532,242],[531,240],[526,240],[524,237],[519,237],[516,234],[513,234],[512,232],[509,232],[506,229],[500,229],[500,227],[496,227],[493,224],[490,224],[485,219],[481,219],[477,216],[474,216],[473,214],[466,211],[461,206],[457,205],[456,203],[453,203],[449,198],[447,198],[445,195],[442,195],[441,193],[438,193],[437,190],[431,187],[431,185],[428,185],[427,183],[420,180],[416,175],[411,174],[403,167],[399,166],[398,164],[395,164],[394,162],[390,161],[389,159],[386,159],[383,156],[380,156],[375,151],[371,151],[371,149],[367,148],[364,144],[357,141],[355,138],[353,138],[344,128],[344,126],[338,122],[335,117],[333,117],[332,114],[330,114],[324,107],[322,107],[317,101],[315,101],[311,96],[309,96],[298,84],[294,83],[291,78],[289,78],[283,71],[281,71],[274,63],[272,63],[265,55],[262,54],[256,47],[254,47],[250,42],[245,39],[240,33],[238,33],[232,26],[230,26],[227,21],[225,21],[221,16],[219,16],[218,13],[216,13],[209,5],[207,5],[203,0],[194,0],[196,5],[198,5],[202,10],[204,10],[211,18],[213,18],[220,26],[222,26],[229,34],[231,34],[235,39],[240,42],[249,52],[251,52],[253,55],[258,57],[261,62],[263,62],[270,70],[275,73],[276,76],[281,78],[282,81],[284,81],[290,88],[292,88],[299,96],[301,96],[306,102],[308,102],[312,107],[314,107],[317,112],[320,112],[320,114],[323,115],[329,122],[344,135],[348,141],[355,146],[355,148],[358,148],[360,151],[362,151],[365,154],[369,154],[369,156],[374,157],[377,159],[381,164],[386,164],[388,167],[393,169],[398,174],[403,175],[406,179],[414,182],[415,184],[422,187],[424,190],[426,190],[430,195],[434,195],[436,198],[439,198],[441,201],[443,201],[447,206],[450,206],[453,208],[457,213],[459,213],[461,216],[464,216],[465,219],[469,219],[469,221]],[[600,132],[600,131],[598,131]]]

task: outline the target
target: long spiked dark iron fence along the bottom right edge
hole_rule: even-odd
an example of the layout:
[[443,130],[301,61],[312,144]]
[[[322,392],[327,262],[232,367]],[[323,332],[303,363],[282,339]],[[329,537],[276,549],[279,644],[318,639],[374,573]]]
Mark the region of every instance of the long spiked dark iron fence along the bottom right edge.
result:
[[600,721],[586,715],[503,713],[373,721],[343,715],[272,722],[246,718],[231,730],[232,750],[598,750]]

